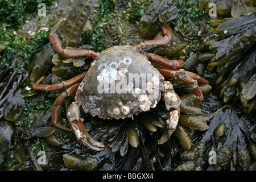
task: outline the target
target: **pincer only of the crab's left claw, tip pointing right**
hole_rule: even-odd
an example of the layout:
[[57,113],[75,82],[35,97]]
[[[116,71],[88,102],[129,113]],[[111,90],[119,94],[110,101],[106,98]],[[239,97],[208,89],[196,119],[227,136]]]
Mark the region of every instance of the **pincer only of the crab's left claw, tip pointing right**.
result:
[[71,123],[71,128],[77,140],[82,142],[86,147],[96,150],[102,151],[104,150],[104,144],[101,144],[96,139],[94,139],[90,134],[87,132],[84,123],[82,123],[81,119],[79,121],[74,121]]

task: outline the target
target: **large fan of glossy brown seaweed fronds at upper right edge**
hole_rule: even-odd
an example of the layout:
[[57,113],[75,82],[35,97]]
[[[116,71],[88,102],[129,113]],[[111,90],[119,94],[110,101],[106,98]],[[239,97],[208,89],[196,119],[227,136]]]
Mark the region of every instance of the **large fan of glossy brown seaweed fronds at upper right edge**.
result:
[[212,20],[216,34],[205,39],[198,56],[209,61],[210,73],[217,72],[222,100],[240,102],[246,113],[255,112],[255,23],[255,13]]

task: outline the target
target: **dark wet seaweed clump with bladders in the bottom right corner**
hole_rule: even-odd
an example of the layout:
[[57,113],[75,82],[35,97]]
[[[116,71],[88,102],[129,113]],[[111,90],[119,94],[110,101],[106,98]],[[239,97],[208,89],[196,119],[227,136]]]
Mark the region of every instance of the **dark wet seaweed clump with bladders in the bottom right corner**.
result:
[[222,106],[210,117],[209,129],[191,150],[185,150],[183,162],[175,170],[255,170],[253,125],[238,118],[236,110]]

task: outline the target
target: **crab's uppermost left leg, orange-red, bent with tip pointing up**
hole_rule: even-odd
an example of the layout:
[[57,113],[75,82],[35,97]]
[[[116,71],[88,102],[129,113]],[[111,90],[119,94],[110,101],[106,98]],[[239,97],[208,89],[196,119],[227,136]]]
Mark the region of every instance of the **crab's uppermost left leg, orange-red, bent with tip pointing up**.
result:
[[52,48],[59,54],[64,57],[82,57],[82,56],[89,56],[92,57],[92,59],[96,59],[100,53],[96,53],[92,50],[86,50],[86,49],[63,49],[60,39],[55,34],[57,28],[60,26],[60,23],[63,21],[61,19],[58,23],[55,24],[54,27],[52,27],[52,30],[49,34],[49,42],[52,44]]

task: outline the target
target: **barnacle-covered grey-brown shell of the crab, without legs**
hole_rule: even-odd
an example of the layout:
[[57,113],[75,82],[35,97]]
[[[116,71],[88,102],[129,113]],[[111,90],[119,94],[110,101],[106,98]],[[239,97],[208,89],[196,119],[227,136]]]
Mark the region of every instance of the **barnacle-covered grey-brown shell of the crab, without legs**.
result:
[[115,46],[93,61],[77,89],[77,101],[93,117],[132,117],[156,106],[163,81],[146,56],[129,46]]

